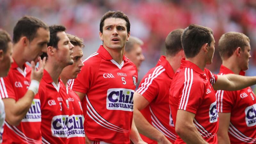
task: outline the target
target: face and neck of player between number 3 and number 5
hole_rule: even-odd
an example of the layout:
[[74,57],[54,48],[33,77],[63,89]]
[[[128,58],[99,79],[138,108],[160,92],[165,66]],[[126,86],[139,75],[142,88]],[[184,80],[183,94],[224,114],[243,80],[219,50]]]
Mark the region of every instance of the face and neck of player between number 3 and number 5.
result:
[[65,76],[67,79],[76,78],[77,75],[81,72],[81,68],[84,66],[82,62],[83,51],[80,46],[76,45],[73,48],[72,56],[74,60],[73,65],[65,67],[61,72],[61,75]]

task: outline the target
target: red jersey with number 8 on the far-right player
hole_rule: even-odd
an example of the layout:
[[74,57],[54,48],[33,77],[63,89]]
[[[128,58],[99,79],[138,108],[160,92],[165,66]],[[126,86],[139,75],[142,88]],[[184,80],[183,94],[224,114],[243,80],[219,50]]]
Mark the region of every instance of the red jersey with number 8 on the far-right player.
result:
[[[220,75],[233,74],[230,69],[220,66]],[[239,73],[244,76],[244,71]],[[250,87],[239,91],[216,92],[217,110],[230,113],[228,136],[230,143],[256,143],[256,97]]]

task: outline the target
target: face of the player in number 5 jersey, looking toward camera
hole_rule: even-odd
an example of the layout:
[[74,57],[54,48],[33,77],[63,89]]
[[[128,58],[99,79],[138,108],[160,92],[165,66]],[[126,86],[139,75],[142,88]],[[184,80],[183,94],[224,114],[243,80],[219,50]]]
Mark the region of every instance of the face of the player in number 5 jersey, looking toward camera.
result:
[[120,18],[108,18],[104,21],[100,39],[103,46],[110,49],[122,49],[130,36],[127,33],[126,21]]

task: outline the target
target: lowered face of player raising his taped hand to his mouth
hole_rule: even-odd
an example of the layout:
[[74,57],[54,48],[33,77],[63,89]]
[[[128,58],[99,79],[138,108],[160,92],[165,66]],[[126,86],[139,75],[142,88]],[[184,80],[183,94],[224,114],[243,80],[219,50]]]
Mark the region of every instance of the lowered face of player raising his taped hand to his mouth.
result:
[[28,44],[28,54],[27,61],[34,60],[38,61],[38,56],[42,54],[42,52],[46,52],[47,43],[50,40],[50,31],[44,28],[38,28],[36,32],[36,37],[29,42]]

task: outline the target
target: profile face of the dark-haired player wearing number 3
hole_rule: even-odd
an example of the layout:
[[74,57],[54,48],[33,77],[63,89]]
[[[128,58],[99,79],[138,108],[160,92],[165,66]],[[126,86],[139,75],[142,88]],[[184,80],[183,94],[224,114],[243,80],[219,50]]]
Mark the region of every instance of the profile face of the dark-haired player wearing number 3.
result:
[[70,43],[66,32],[58,32],[59,37],[58,49],[56,50],[56,60],[64,66],[72,65],[73,61],[73,48],[74,45]]

